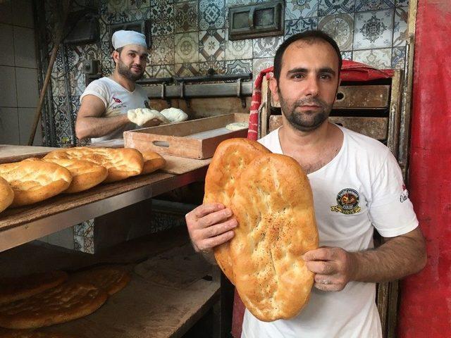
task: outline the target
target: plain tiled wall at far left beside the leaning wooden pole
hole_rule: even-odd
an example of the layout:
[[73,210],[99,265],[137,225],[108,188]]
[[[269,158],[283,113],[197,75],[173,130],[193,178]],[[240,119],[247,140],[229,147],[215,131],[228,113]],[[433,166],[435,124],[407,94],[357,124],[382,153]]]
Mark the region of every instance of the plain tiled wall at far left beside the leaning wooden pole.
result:
[[0,46],[0,144],[25,145],[39,96],[32,0],[0,1]]

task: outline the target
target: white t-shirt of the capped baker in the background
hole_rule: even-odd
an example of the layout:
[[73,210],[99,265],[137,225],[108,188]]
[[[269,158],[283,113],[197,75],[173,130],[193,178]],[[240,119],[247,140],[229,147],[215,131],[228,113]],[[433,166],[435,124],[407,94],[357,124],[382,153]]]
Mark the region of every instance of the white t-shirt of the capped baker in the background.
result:
[[[80,102],[86,95],[97,96],[104,102],[105,113],[104,115],[101,115],[101,117],[104,118],[126,114],[129,109],[149,108],[147,94],[139,84],[135,85],[135,90],[133,92],[129,92],[128,89],[125,89],[121,84],[111,80],[109,77],[101,77],[101,79],[89,83],[85,92],[80,96]],[[99,142],[106,139],[122,139],[125,130],[132,130],[135,129],[135,127],[135,123],[130,122],[110,134],[92,138],[91,141]]]

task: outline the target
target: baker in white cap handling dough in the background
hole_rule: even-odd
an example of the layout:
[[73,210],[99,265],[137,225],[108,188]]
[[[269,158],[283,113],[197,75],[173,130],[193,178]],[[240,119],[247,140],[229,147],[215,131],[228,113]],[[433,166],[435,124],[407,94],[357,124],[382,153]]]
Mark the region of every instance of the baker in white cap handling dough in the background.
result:
[[149,108],[146,92],[136,84],[147,65],[144,35],[119,30],[113,34],[112,43],[116,63],[113,75],[94,80],[80,97],[75,123],[78,139],[92,138],[92,142],[118,139],[125,130],[135,129],[137,125],[151,127],[162,122],[150,110],[146,110],[148,114],[128,114],[130,110]]

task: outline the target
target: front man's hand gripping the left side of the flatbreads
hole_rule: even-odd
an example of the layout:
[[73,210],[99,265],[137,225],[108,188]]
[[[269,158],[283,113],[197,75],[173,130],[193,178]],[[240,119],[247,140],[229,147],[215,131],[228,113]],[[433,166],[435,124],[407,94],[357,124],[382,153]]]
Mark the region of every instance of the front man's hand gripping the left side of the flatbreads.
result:
[[238,223],[230,208],[223,204],[202,204],[185,216],[194,249],[211,251],[232,239]]

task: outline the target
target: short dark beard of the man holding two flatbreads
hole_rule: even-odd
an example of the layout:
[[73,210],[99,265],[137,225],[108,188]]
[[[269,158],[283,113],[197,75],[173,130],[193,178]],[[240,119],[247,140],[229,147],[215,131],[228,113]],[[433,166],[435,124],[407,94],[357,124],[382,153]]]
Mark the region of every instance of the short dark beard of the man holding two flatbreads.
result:
[[[280,92],[279,101],[285,118],[287,118],[292,127],[301,132],[309,132],[322,125],[323,122],[328,119],[333,106],[333,104],[329,105],[321,99],[302,99],[291,104],[283,99]],[[296,107],[303,106],[304,104],[320,106],[321,110],[318,113],[314,111],[303,111],[302,113],[298,113]]]

